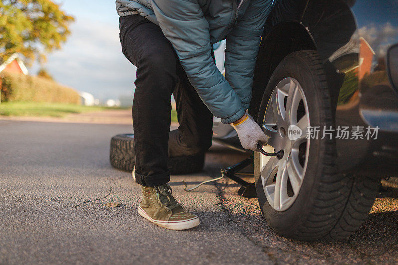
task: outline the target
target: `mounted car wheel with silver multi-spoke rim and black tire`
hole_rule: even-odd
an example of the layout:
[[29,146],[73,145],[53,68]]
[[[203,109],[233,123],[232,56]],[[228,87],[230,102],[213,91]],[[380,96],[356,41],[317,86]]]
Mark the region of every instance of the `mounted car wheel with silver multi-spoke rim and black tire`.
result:
[[[334,136],[307,139],[312,126],[334,124],[330,95],[316,51],[298,51],[278,65],[265,89],[258,123],[270,136],[255,152],[256,192],[268,225],[298,240],[342,239],[365,220],[377,181],[336,174]],[[322,130],[321,130],[322,131]]]

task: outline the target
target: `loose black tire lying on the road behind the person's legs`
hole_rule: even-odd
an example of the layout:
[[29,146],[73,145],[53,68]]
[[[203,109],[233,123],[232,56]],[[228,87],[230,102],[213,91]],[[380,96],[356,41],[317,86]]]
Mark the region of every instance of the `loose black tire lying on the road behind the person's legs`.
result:
[[[203,170],[205,154],[168,158],[168,168],[173,175],[191,174]],[[110,164],[132,172],[135,165],[134,134],[118,134],[110,142]]]

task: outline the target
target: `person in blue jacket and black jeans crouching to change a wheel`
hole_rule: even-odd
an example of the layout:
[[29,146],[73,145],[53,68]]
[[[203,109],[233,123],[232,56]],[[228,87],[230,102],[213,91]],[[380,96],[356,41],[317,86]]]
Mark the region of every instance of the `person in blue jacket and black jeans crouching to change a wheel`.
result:
[[[234,124],[244,148],[256,150],[258,141],[267,142],[245,110],[274,1],[116,0],[123,54],[137,67],[133,174],[142,185],[138,213],[149,221],[174,230],[199,225],[171,195],[168,161],[172,172],[179,163],[203,165],[213,115]],[[211,48],[223,39],[225,78]],[[172,93],[180,126],[169,137]]]

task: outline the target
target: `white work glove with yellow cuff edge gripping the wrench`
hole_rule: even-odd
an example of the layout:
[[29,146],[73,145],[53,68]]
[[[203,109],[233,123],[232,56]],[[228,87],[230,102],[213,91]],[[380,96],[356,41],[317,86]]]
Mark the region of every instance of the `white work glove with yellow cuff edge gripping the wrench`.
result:
[[268,136],[264,134],[252,116],[249,114],[245,115],[247,117],[243,121],[237,123],[236,125],[232,124],[232,127],[234,127],[238,133],[238,137],[243,148],[258,152],[256,147],[257,142],[260,141],[263,144],[266,144],[268,142]]

